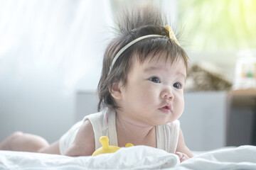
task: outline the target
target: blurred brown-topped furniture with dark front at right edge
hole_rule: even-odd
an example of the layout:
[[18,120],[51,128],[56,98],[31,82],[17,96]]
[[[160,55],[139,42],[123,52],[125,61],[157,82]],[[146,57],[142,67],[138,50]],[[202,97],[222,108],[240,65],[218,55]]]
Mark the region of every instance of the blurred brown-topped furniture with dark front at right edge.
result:
[[256,145],[256,89],[228,94],[227,145]]

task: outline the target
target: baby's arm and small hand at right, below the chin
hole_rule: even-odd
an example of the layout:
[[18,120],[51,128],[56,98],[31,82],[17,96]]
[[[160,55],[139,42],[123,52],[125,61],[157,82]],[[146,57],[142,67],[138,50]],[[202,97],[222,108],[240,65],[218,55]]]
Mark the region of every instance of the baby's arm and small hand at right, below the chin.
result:
[[193,157],[193,154],[190,149],[185,144],[184,137],[183,137],[183,132],[180,129],[179,130],[179,136],[178,136],[178,146],[176,149],[176,154],[180,158],[180,161],[183,162],[188,158]]

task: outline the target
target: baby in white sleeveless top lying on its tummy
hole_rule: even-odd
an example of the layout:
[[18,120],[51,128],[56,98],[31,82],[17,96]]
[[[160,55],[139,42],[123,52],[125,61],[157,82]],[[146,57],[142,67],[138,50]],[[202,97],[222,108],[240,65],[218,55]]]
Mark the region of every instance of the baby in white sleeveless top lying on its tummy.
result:
[[178,118],[183,113],[183,86],[188,56],[159,8],[150,5],[125,11],[117,21],[119,35],[105,50],[97,87],[99,113],[85,116],[57,142],[14,132],[0,149],[91,155],[105,135],[110,145],[146,145],[193,157]]

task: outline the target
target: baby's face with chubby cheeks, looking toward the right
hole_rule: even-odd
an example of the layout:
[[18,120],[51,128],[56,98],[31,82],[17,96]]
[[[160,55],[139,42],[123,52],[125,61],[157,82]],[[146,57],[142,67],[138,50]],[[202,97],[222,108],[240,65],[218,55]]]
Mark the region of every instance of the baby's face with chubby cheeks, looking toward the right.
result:
[[140,63],[134,57],[121,89],[120,112],[139,125],[164,125],[183,113],[183,86],[186,67],[182,59],[171,64],[164,57],[154,57]]

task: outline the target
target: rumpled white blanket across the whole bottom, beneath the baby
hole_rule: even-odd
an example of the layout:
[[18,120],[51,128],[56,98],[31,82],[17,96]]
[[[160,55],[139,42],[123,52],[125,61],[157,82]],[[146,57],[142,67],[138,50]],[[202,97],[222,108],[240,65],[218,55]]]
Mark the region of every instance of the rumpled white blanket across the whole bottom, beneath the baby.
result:
[[181,164],[175,154],[145,146],[97,157],[0,151],[0,169],[256,169],[256,147],[218,149]]

